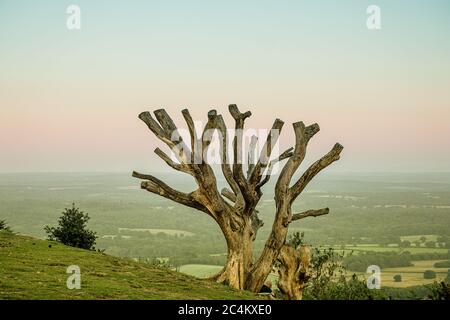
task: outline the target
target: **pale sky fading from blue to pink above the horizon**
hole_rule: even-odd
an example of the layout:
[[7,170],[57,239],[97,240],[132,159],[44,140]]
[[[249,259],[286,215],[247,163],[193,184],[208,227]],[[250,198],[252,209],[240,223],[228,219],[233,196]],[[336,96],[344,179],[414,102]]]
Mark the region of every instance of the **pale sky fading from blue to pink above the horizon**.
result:
[[0,172],[162,170],[139,112],[230,103],[336,171],[450,171],[450,2],[0,0]]

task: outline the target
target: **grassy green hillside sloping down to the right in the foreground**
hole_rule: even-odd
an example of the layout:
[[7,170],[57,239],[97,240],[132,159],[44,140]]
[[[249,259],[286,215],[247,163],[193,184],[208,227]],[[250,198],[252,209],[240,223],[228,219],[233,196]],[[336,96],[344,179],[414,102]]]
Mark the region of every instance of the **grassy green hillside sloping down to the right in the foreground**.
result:
[[[69,290],[66,269],[81,269]],[[174,271],[0,231],[0,299],[254,299]]]

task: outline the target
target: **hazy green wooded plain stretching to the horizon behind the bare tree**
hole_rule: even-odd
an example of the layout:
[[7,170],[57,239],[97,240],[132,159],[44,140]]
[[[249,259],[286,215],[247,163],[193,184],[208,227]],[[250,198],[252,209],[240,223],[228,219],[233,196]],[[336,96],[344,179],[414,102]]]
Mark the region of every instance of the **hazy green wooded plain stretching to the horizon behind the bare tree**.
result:
[[[161,173],[158,177],[179,190],[196,187],[183,175]],[[75,202],[89,213],[89,229],[99,236],[97,247],[108,254],[140,261],[164,257],[176,266],[206,265],[207,270],[187,269],[196,276],[216,272],[226,261],[227,248],[213,219],[143,191],[139,184],[129,172],[0,174],[0,218],[14,232],[46,238],[44,227],[56,226],[64,208]],[[264,226],[254,241],[255,256],[271,231],[273,190],[269,182],[258,206]],[[321,176],[295,201],[293,210],[329,207],[331,213],[297,221],[289,232],[305,232],[305,241],[313,246],[327,243],[323,247],[337,251],[347,244],[345,251],[355,255],[402,250],[446,253],[448,249],[396,245],[400,239],[414,244],[422,236],[426,241],[435,241],[437,235],[450,236],[449,192],[450,174]],[[395,245],[379,245],[384,242]],[[209,266],[216,267],[211,270]]]

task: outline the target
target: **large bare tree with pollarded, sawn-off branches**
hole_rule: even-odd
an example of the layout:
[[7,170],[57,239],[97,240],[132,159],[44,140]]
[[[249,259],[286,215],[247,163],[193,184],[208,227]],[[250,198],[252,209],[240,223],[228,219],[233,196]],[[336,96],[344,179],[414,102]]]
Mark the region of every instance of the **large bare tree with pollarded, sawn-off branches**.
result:
[[[303,122],[294,123],[295,147],[273,157],[272,151],[284,124],[283,121],[276,119],[259,157],[248,164],[245,174],[241,161],[244,150],[242,129],[244,129],[245,120],[251,116],[251,112],[241,113],[236,105],[230,105],[229,111],[235,121],[231,150],[232,164],[228,159],[227,127],[216,110],[208,112],[208,122],[201,136],[197,136],[189,111],[187,109],[182,111],[190,133],[190,146],[187,146],[178,134],[177,126],[164,109],[154,112],[156,120],[149,112],[141,113],[139,118],[174,152],[178,161],[173,161],[159,148],[155,149],[155,153],[173,169],[191,175],[198,188],[185,193],[173,189],[152,175],[133,172],[133,177],[144,180],[141,184],[142,189],[211,216],[220,226],[228,248],[227,262],[213,279],[237,289],[258,292],[280,254],[290,223],[329,212],[328,208],[325,208],[293,213],[291,206],[322,169],[339,159],[343,147],[336,144],[291,185],[294,173],[305,158],[308,142],[319,131],[319,126],[317,124],[305,126]],[[206,157],[212,131],[219,133],[221,169],[229,185],[229,188],[221,191],[218,190],[216,176]],[[250,143],[249,159],[253,158],[255,153],[256,139],[253,137]],[[281,170],[275,187],[276,212],[272,231],[261,255],[253,261],[253,240],[258,229],[263,225],[256,210],[263,194],[262,187],[271,178],[273,166],[286,159],[287,162]]]

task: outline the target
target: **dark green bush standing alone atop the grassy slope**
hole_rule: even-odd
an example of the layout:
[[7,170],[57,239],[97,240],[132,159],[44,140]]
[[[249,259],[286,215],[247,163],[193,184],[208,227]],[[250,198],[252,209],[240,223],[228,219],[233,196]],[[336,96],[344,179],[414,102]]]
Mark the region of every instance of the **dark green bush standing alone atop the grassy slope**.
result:
[[58,220],[59,226],[57,228],[46,226],[45,232],[49,240],[59,241],[71,247],[95,250],[97,236],[95,232],[86,229],[88,221],[88,214],[72,204],[72,208],[63,211]]

